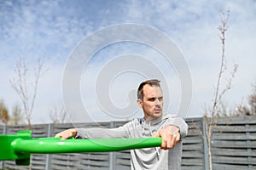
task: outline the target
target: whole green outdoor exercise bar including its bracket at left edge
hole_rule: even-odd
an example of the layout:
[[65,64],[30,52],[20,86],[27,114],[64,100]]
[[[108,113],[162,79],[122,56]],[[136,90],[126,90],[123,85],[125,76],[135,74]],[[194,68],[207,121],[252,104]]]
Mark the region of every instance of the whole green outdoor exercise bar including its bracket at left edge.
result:
[[66,139],[32,138],[31,131],[0,135],[0,161],[15,160],[29,165],[30,154],[108,152],[160,146],[160,138],[141,139]]

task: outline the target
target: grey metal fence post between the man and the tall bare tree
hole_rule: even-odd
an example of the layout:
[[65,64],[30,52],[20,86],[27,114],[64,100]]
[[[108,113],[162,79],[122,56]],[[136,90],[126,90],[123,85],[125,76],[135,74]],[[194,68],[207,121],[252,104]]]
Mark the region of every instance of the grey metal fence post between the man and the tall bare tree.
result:
[[201,132],[202,132],[202,139],[203,139],[203,158],[204,158],[204,169],[210,169],[209,167],[209,157],[208,157],[208,145],[207,145],[207,134],[206,134],[206,120],[204,117],[201,117]]

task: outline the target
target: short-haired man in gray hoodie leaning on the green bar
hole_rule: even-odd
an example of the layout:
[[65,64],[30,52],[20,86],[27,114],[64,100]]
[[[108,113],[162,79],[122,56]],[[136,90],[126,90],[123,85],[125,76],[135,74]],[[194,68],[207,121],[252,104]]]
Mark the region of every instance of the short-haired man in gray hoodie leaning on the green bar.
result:
[[181,169],[182,144],[188,125],[179,116],[163,115],[163,94],[159,80],[142,82],[137,90],[137,104],[144,117],[117,128],[71,128],[55,137],[68,139],[111,139],[161,137],[160,147],[131,150],[131,169]]

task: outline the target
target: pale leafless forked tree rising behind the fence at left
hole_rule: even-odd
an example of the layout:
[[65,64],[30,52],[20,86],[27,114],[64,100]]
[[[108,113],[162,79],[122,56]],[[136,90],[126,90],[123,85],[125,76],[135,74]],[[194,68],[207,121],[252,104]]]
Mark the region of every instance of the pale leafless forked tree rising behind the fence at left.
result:
[[[26,118],[28,126],[31,128],[32,111],[38,92],[38,81],[42,76],[43,60],[38,59],[38,65],[34,68],[34,79],[32,84],[27,82],[29,69],[27,68],[25,59],[20,57],[19,61],[15,66],[16,77],[9,80],[12,88],[20,96],[20,100],[23,107],[23,112]],[[31,85],[31,86],[30,86]]]

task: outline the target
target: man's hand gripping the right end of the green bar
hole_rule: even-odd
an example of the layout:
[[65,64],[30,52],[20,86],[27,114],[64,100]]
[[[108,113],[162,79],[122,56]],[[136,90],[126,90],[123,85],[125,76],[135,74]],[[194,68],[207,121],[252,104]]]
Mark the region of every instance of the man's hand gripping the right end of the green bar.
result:
[[169,150],[172,149],[180,140],[179,128],[168,125],[165,128],[160,129],[160,131],[155,133],[152,137],[161,137],[162,144],[160,148]]

